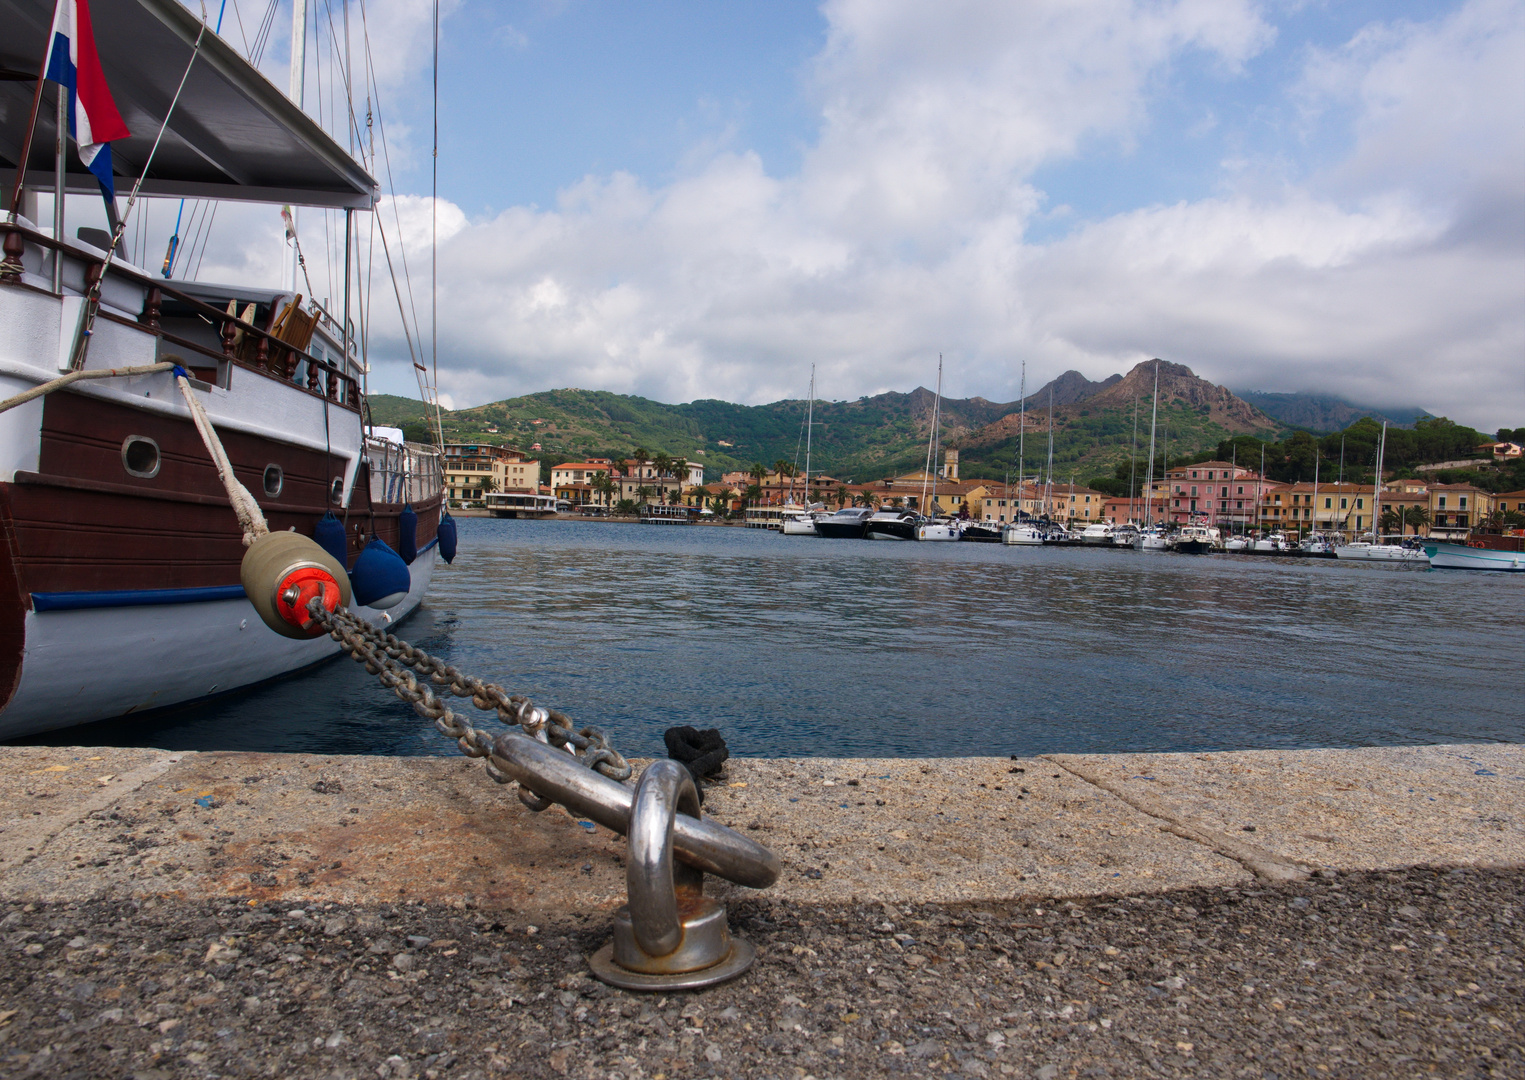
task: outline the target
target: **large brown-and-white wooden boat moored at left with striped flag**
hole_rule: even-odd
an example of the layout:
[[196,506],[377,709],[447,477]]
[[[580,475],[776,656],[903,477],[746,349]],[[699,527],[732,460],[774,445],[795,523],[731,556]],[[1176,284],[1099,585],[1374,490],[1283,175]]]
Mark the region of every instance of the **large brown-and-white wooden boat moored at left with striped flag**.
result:
[[[55,5],[6,2],[0,59],[41,73]],[[0,410],[0,738],[224,694],[339,654],[328,636],[268,628],[246,596],[250,531],[223,465],[270,532],[311,535],[343,561],[351,610],[374,625],[406,618],[454,549],[439,448],[366,423],[349,253],[377,182],[177,0],[92,14],[96,90],[137,125],[96,153],[104,177],[55,151],[66,107],[38,108],[43,78],[0,81],[0,156],[17,168],[0,220],[0,374],[6,397],[40,392]],[[116,169],[136,178],[120,220]],[[52,229],[37,224],[32,180],[53,191]],[[114,233],[70,238],[63,195],[98,191]],[[343,304],[133,265],[120,241],[140,195],[343,209]],[[403,574],[363,601],[357,561],[377,540]]]

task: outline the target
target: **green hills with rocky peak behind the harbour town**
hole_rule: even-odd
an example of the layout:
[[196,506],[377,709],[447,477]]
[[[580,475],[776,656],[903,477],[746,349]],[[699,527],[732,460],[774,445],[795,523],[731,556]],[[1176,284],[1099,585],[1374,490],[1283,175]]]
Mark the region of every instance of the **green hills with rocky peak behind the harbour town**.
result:
[[[1092,383],[1064,372],[1054,387],[1055,473],[1077,479],[1110,473],[1125,461],[1133,433],[1133,401],[1139,403],[1141,444],[1148,438],[1153,362],[1128,375]],[[1043,387],[1028,398],[1028,473],[1045,456],[1046,401]],[[878,394],[856,401],[816,401],[813,468],[846,481],[871,481],[920,468],[926,462],[933,395]],[[985,398],[942,401],[942,445],[958,447],[964,476],[1000,477],[1017,452],[1020,403]],[[425,418],[419,401],[390,395],[371,398],[378,424],[410,426]],[[752,462],[804,465],[805,401],[741,406],[700,400],[663,404],[607,391],[561,389],[444,412],[445,439],[493,441],[535,452],[558,462],[586,456],[628,455],[636,447],[703,462],[711,479],[746,470]],[[1161,363],[1161,424],[1170,429],[1173,456],[1215,447],[1234,435],[1273,436],[1281,426],[1188,368]],[[1141,445],[1139,453],[1144,453]]]

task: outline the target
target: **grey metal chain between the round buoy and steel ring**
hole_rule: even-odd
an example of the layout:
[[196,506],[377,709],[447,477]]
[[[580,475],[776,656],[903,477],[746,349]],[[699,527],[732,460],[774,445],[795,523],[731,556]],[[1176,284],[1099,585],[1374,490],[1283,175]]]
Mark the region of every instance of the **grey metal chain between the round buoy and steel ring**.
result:
[[[433,720],[441,734],[454,738],[462,754],[486,758],[488,775],[497,783],[508,784],[512,778],[491,761],[493,737],[445,705],[430,683],[448,688],[456,697],[470,699],[483,712],[496,712],[509,728],[522,728],[532,738],[567,751],[584,766],[596,769],[610,779],[630,779],[633,772],[630,763],[608,744],[598,728],[578,731],[566,714],[543,709],[523,694],[509,694],[497,683],[464,674],[422,648],[372,627],[351,612],[343,609],[329,612],[317,598],[308,606],[308,612],[328,636],[352,659],[364,664],[366,671],[377,676],[383,686],[412,705],[421,717]],[[418,676],[424,676],[427,682]],[[518,798],[531,810],[544,810],[551,805],[549,801],[525,789],[520,789]]]

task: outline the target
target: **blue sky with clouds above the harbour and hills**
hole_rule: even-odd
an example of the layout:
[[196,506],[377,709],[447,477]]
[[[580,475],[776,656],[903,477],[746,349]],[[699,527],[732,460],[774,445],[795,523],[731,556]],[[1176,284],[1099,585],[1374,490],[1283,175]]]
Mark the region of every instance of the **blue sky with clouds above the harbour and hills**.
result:
[[[244,50],[264,8],[230,0],[223,37]],[[262,55],[282,87],[290,20]],[[930,386],[939,354],[947,394],[1014,400],[1023,363],[1031,391],[1157,355],[1525,424],[1517,0],[447,0],[436,267],[430,21],[366,3],[378,218],[425,360],[438,272],[447,404],[755,404],[811,365],[840,400]],[[310,52],[332,122],[336,56]],[[156,265],[172,211],[149,209]],[[300,223],[331,294],[336,218]],[[281,262],[274,211],[226,204],[198,273]],[[369,290],[372,389],[415,394],[390,284]]]

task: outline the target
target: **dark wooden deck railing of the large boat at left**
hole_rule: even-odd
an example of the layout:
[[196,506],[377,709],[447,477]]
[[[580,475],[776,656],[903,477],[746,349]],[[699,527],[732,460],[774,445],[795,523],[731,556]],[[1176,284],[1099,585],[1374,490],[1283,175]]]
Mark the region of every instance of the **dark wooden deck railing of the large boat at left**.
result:
[[[21,265],[26,244],[52,250],[55,252],[55,258],[67,255],[72,259],[84,262],[87,287],[95,284],[95,281],[101,276],[102,267],[105,265],[104,255],[98,256],[81,250],[79,247],[58,241],[38,229],[21,224],[20,221],[0,221],[0,233],[5,235],[3,249],[6,262],[12,265]],[[220,365],[226,363],[242,368],[244,371],[256,372],[265,378],[288,383],[307,391],[308,394],[326,398],[345,409],[352,409],[355,412],[360,410],[360,383],[354,375],[322,357],[313,355],[307,349],[288,345],[271,333],[276,316],[274,305],[270,305],[267,317],[267,323],[270,325],[256,326],[255,323],[244,322],[238,316],[230,316],[227,311],[220,311],[217,307],[163,281],[156,281],[134,267],[124,267],[119,262],[113,262],[108,273],[140,287],[143,290],[143,308],[136,320],[110,311],[101,311],[101,319],[108,319],[127,326],[136,326],[143,333],[154,334],[160,340],[172,343],[178,349],[209,357],[217,360]],[[35,288],[37,291],[47,293],[49,296],[56,296],[52,290],[43,290],[37,285],[24,282],[20,272],[0,273],[0,284],[11,285],[12,288]],[[163,301],[166,296],[174,297],[195,314],[212,322],[214,326],[218,326],[223,342],[221,352],[209,349],[200,342],[172,334],[160,325]],[[253,362],[239,355],[239,336],[242,336],[246,342],[255,342],[255,348],[252,349]],[[307,377],[305,380],[297,381],[296,374],[303,362],[307,365]]]

